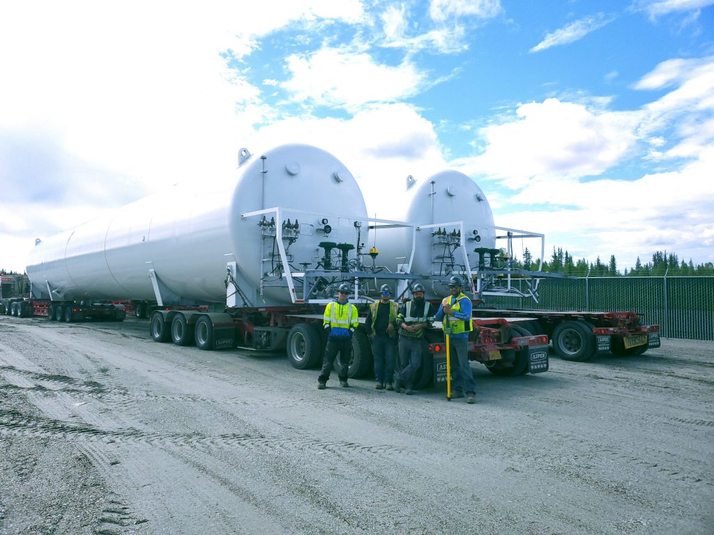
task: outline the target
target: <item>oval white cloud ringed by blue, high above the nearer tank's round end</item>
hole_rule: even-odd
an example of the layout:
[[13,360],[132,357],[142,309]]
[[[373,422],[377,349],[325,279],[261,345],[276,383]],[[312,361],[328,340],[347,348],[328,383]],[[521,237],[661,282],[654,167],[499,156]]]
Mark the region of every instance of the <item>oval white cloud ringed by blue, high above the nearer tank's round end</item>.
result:
[[291,78],[281,83],[298,102],[357,109],[367,103],[393,102],[417,93],[426,74],[412,63],[376,63],[372,56],[346,49],[323,48],[287,58]]

